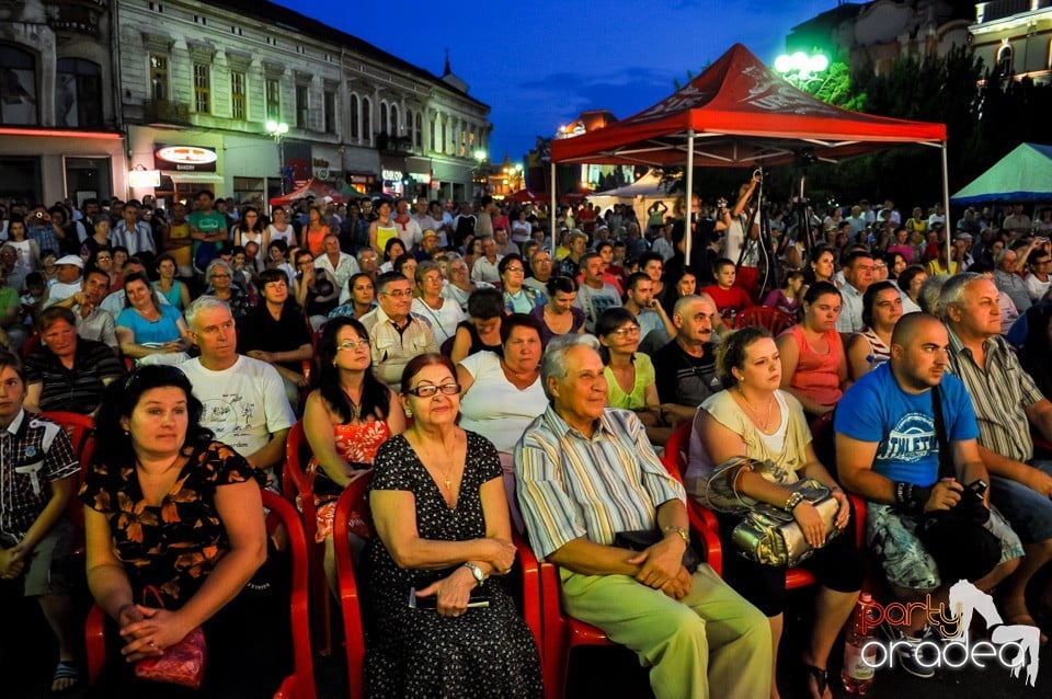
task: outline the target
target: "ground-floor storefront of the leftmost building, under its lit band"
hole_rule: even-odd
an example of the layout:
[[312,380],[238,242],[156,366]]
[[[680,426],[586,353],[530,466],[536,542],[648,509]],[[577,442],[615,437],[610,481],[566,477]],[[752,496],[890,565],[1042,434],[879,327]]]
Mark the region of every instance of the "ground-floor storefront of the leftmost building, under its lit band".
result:
[[125,171],[121,134],[0,127],[0,196],[79,205],[121,196]]

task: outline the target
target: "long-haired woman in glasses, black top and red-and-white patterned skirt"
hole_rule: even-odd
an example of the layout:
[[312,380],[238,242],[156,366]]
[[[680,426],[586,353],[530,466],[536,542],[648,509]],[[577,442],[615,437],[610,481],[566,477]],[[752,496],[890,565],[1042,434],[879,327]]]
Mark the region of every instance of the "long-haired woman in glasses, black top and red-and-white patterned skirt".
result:
[[[354,318],[325,323],[318,344],[319,368],[304,410],[304,434],[318,462],[315,503],[318,541],[325,542],[325,574],[335,589],[332,522],[336,501],[351,482],[373,469],[376,450],[405,429],[398,394],[373,375],[369,334]],[[354,534],[368,538],[363,513]]]

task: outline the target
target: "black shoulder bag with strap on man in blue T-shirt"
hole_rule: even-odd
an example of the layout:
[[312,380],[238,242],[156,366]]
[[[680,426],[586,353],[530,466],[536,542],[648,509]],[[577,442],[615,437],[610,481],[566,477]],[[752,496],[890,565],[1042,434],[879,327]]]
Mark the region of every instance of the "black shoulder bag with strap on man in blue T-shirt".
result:
[[[939,478],[953,478],[950,444],[942,416],[941,388],[931,390],[935,434],[939,443]],[[1000,562],[1000,540],[985,527],[990,509],[982,495],[965,488],[951,509],[924,513],[917,534],[924,548],[939,566],[939,575],[949,584],[959,580],[974,583]]]

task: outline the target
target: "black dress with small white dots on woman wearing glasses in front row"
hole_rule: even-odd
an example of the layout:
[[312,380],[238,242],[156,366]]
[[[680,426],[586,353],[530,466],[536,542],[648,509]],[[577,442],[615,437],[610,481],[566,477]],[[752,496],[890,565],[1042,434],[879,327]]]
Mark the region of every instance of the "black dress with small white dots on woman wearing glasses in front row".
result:
[[[479,488],[502,477],[496,449],[468,434],[460,494],[450,509],[438,485],[402,436],[376,455],[369,490],[409,491],[416,500],[416,528],[425,539],[464,541],[485,536]],[[403,570],[379,537],[365,550],[367,697],[540,697],[537,648],[500,578],[488,578],[478,594],[488,608],[459,617],[411,609],[409,591],[448,576],[455,568]]]

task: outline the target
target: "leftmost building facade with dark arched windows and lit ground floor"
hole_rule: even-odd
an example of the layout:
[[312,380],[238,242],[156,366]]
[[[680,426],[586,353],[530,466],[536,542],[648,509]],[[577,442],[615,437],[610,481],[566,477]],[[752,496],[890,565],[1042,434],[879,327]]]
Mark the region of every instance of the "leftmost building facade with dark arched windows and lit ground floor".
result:
[[0,3],[0,196],[124,194],[113,26],[105,0]]

